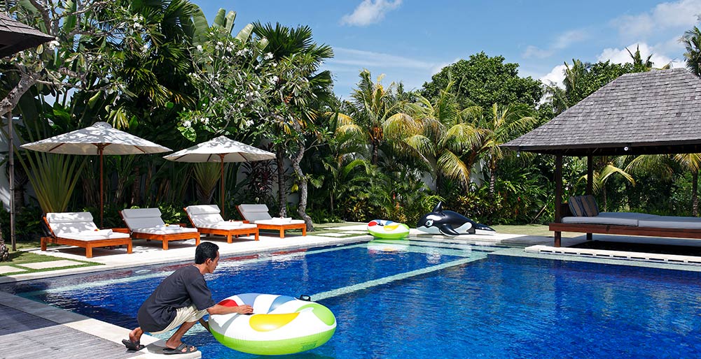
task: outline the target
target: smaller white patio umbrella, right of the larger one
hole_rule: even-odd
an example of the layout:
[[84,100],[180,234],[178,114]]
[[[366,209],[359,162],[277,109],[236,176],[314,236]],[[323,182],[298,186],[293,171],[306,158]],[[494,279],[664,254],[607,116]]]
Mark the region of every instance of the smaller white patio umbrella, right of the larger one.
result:
[[222,164],[222,215],[224,214],[224,162],[251,162],[272,160],[275,153],[261,150],[245,143],[233,141],[226,136],[219,136],[207,142],[163,156],[175,162],[220,162]]

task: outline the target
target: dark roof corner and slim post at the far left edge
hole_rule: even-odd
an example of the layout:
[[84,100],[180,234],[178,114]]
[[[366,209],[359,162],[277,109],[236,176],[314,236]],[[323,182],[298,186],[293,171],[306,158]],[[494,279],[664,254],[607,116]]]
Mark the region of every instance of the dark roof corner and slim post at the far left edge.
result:
[[[55,39],[53,36],[44,34],[4,13],[0,13],[0,57],[14,55],[22,50],[34,48]],[[12,111],[8,111],[7,121],[8,148],[10,148],[8,151],[8,167],[10,170],[10,178],[8,178],[10,185],[10,238],[12,250],[17,251],[17,245],[15,244],[15,160],[13,158]]]

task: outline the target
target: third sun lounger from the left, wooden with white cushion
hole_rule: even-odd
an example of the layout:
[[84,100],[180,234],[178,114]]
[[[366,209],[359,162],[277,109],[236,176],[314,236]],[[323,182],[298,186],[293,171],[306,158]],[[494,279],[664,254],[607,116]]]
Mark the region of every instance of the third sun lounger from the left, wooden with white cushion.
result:
[[196,227],[202,234],[216,234],[225,236],[226,241],[231,243],[232,236],[255,236],[258,240],[258,227],[250,223],[241,221],[224,220],[219,214],[219,206],[216,204],[200,204],[197,206],[185,207],[187,218],[190,219],[193,227]]

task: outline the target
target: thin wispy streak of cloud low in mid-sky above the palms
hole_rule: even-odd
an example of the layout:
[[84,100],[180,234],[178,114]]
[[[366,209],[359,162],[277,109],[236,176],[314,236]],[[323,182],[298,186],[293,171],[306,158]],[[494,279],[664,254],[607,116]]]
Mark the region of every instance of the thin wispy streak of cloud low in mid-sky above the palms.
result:
[[334,58],[326,61],[329,64],[355,66],[356,69],[374,66],[393,66],[405,69],[433,69],[436,64],[409,57],[355,50],[350,48],[334,48]]

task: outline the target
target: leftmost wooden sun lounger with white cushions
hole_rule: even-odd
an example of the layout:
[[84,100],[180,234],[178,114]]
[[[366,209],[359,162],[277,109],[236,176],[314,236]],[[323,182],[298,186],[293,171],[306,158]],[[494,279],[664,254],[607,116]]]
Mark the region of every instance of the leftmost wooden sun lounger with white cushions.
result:
[[43,220],[51,237],[41,237],[41,251],[46,251],[46,244],[54,243],[86,248],[87,258],[93,258],[96,247],[127,246],[127,253],[132,253],[129,234],[99,230],[90,212],[46,213]]

